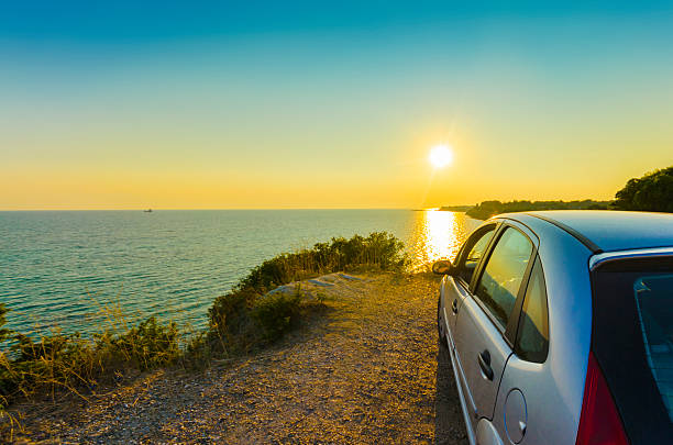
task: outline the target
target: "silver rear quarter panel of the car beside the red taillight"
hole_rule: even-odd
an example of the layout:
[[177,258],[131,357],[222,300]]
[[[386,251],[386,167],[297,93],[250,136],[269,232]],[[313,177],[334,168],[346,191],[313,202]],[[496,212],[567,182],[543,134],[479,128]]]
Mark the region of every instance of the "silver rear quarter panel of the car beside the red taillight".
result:
[[512,355],[500,383],[494,425],[505,438],[505,400],[517,388],[528,410],[521,444],[574,443],[592,338],[592,252],[553,224],[525,214],[519,218],[540,238],[538,256],[547,287],[549,353],[543,364]]

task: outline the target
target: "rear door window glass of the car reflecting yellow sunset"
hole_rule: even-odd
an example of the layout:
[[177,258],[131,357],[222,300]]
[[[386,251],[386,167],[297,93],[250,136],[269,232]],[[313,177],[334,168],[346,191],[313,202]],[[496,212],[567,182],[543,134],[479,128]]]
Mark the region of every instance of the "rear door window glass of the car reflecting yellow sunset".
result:
[[506,229],[477,285],[477,298],[503,329],[509,321],[532,248],[532,243],[526,235],[516,229]]

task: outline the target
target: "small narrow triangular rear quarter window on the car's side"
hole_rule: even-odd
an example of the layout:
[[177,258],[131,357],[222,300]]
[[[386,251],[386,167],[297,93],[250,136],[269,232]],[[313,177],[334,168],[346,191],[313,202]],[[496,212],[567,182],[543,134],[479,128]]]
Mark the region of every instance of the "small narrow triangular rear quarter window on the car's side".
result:
[[543,363],[549,348],[547,290],[540,259],[532,268],[517,331],[516,353],[523,360]]

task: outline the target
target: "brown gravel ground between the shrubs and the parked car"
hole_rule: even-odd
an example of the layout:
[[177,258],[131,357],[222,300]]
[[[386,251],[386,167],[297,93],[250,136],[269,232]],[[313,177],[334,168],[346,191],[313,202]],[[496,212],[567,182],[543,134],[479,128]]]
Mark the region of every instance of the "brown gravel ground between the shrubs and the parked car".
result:
[[156,371],[87,405],[33,407],[23,440],[466,443],[437,343],[437,281],[363,278],[321,289],[328,313],[258,356],[195,375]]

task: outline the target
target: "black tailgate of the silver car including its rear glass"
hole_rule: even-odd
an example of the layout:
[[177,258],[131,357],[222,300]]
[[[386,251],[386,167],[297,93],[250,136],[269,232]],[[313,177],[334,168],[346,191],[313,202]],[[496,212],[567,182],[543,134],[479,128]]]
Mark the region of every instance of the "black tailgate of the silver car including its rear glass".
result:
[[629,441],[671,443],[673,257],[610,260],[592,282],[592,351]]

